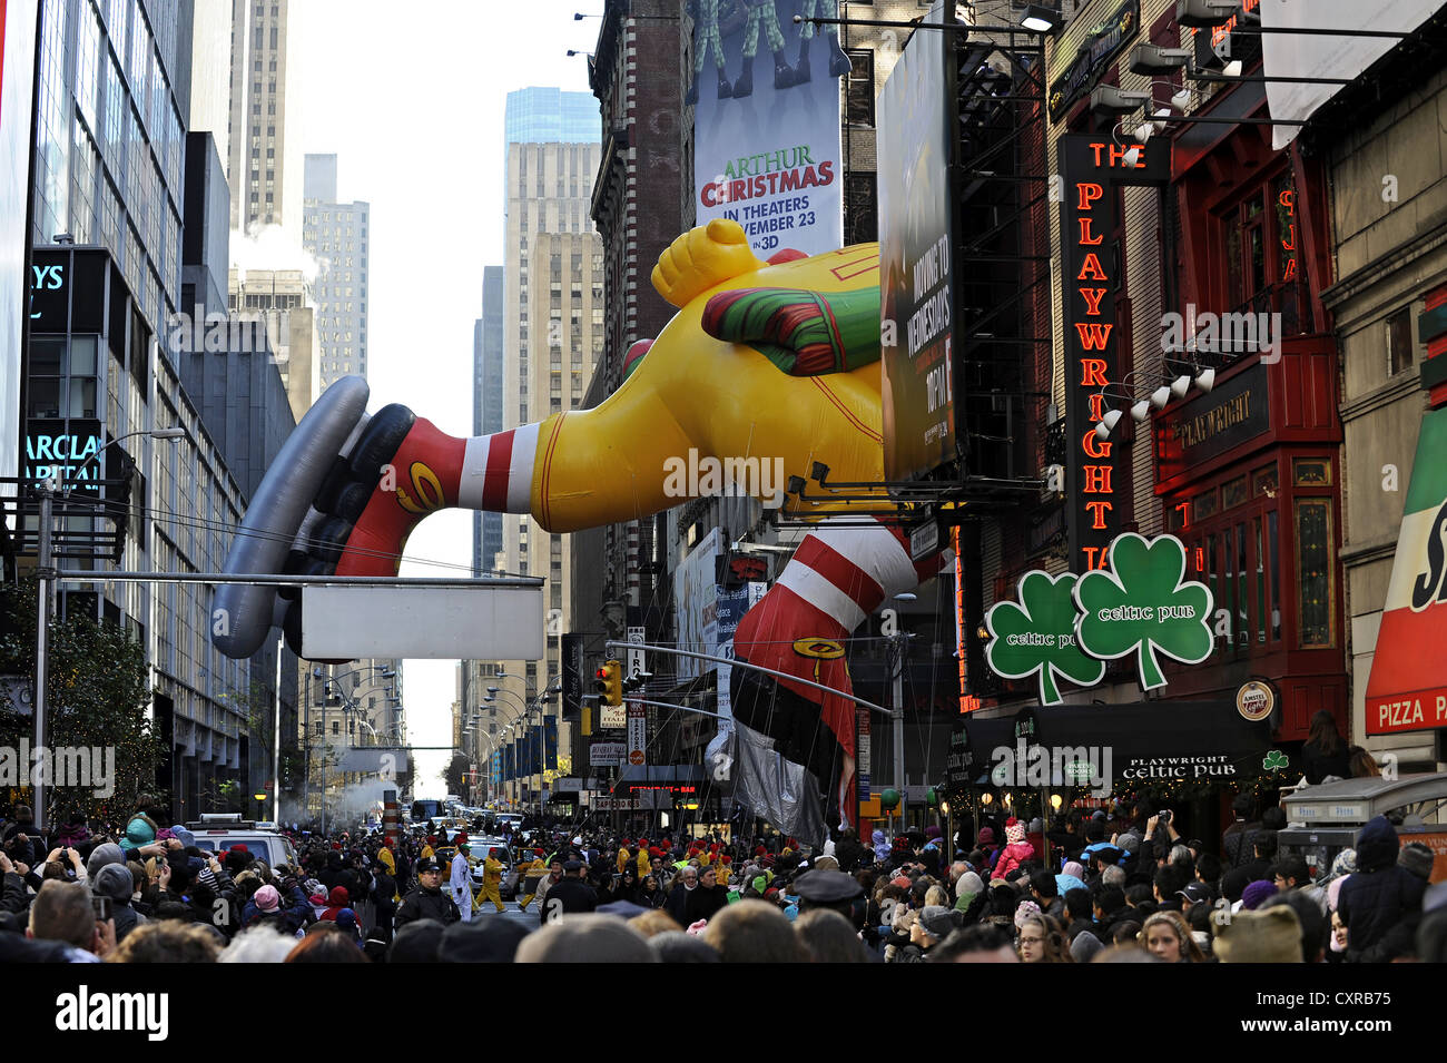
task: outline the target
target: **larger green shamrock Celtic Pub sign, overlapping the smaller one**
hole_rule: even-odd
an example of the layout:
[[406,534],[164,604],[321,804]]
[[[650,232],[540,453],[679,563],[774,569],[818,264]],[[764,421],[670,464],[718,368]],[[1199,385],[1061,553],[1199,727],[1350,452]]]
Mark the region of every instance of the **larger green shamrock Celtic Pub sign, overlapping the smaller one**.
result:
[[1082,616],[1075,633],[1091,657],[1136,654],[1140,686],[1166,684],[1156,654],[1200,664],[1211,655],[1211,592],[1184,581],[1185,547],[1175,535],[1147,542],[1134,532],[1110,545],[1110,567],[1085,573],[1075,583]]

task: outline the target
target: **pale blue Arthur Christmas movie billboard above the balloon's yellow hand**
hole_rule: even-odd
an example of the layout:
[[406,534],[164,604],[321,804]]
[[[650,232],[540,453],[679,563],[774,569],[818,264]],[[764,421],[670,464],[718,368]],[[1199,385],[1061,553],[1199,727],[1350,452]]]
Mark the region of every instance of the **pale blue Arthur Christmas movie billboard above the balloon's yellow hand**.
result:
[[[693,104],[697,224],[732,218],[754,255],[844,243],[838,0],[697,0]],[[796,23],[794,16],[805,16]]]

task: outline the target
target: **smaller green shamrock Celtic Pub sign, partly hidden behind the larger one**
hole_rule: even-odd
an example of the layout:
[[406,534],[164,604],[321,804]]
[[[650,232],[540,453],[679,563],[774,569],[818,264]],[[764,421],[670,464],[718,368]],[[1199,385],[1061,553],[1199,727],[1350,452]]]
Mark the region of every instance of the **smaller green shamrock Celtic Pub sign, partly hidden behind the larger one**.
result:
[[1078,645],[1074,589],[1074,573],[1052,577],[1029,571],[1020,577],[1019,605],[997,602],[985,613],[991,671],[1007,680],[1039,673],[1042,704],[1059,704],[1056,680],[1091,687],[1106,675],[1106,662],[1087,657]]

